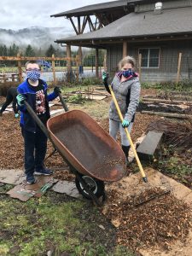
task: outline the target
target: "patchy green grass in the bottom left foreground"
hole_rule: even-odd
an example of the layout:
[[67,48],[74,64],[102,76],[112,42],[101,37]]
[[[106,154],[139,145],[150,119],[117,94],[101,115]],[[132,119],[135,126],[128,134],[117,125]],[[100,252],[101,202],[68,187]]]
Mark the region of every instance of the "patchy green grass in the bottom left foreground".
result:
[[90,202],[52,191],[24,203],[3,195],[9,189],[0,187],[1,256],[134,255],[115,245],[116,230]]

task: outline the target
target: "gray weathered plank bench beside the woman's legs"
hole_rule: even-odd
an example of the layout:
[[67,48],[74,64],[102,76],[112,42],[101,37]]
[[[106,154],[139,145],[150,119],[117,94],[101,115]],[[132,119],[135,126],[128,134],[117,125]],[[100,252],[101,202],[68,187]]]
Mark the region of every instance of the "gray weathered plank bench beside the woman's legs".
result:
[[147,136],[137,148],[138,157],[141,160],[152,160],[156,151],[160,148],[163,132],[148,131]]

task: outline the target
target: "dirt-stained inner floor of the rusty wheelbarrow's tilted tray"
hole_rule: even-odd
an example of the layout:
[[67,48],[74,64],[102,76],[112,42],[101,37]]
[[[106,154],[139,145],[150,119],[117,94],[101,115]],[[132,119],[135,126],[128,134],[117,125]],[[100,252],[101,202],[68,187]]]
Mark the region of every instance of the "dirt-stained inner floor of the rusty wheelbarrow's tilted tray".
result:
[[[57,131],[55,136],[94,177],[103,181],[117,180],[119,170],[125,170],[125,159],[120,159],[109,144],[82,125],[74,124]],[[124,157],[124,155],[123,155]]]

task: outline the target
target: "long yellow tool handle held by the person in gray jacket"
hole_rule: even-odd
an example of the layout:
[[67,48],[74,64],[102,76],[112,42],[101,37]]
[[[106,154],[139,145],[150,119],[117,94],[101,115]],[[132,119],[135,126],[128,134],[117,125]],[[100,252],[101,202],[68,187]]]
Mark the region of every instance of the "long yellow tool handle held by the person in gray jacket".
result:
[[[111,95],[112,95],[112,97],[113,97],[114,105],[115,105],[115,107],[117,108],[117,111],[118,111],[118,114],[119,114],[119,119],[121,120],[121,122],[123,122],[123,119],[124,119],[124,118],[123,118],[122,113],[120,112],[120,108],[119,108],[118,102],[117,102],[117,100],[116,100],[116,98],[115,98],[115,96],[114,96],[114,93],[113,93],[113,90],[112,90],[111,85],[108,85],[108,88],[109,88],[109,90],[110,90],[110,92],[111,92]],[[138,167],[139,167],[139,171],[140,171],[141,174],[142,174],[143,181],[144,181],[145,183],[147,183],[147,182],[148,182],[148,178],[146,177],[145,172],[143,171],[143,166],[142,166],[142,164],[141,164],[141,162],[140,162],[140,160],[139,160],[139,158],[138,158],[136,148],[134,147],[134,145],[133,145],[133,143],[132,143],[131,136],[130,136],[130,133],[129,133],[129,131],[127,130],[127,128],[125,128],[125,133],[126,133],[126,137],[128,138],[128,140],[129,140],[129,142],[130,142],[130,145],[131,145],[131,149],[132,149],[132,151],[133,151],[133,154],[134,154],[134,156],[135,156],[135,158],[136,158],[136,160],[137,160],[137,165],[138,165]]]

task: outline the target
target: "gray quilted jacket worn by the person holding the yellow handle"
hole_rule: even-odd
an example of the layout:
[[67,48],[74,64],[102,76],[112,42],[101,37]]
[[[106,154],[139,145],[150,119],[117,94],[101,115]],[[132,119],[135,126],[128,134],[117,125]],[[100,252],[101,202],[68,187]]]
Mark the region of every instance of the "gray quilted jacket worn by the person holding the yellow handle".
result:
[[[113,78],[112,88],[125,120],[132,122],[139,103],[141,84],[137,77],[120,82],[118,76]],[[120,122],[119,114],[112,101],[109,109],[109,119]]]

